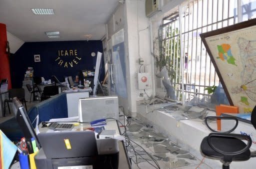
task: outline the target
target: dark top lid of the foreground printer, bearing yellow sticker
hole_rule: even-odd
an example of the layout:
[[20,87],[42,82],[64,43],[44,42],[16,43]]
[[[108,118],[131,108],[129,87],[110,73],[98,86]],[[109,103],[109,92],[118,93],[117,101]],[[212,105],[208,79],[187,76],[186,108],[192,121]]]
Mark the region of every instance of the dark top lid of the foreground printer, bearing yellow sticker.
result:
[[51,132],[37,135],[47,159],[97,156],[94,132]]

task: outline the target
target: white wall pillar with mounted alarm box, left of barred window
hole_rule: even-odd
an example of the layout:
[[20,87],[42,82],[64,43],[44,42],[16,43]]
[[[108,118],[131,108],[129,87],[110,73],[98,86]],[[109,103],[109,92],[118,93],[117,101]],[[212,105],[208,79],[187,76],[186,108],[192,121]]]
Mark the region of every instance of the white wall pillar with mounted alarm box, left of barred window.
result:
[[[144,60],[145,72],[151,72],[151,54],[150,54],[150,38],[148,18],[145,17],[144,0],[126,0],[126,17],[127,17],[127,46],[128,46],[128,67],[129,67],[129,90],[130,93],[130,112],[136,112],[136,101],[146,98],[143,90],[138,90],[137,73],[139,72],[139,57]],[[139,37],[138,37],[139,36]],[[139,41],[138,41],[139,38]],[[138,53],[139,52],[139,53]],[[141,71],[144,68],[141,68]],[[146,89],[147,94],[152,94],[151,89]],[[139,93],[143,93],[143,97],[139,97]]]

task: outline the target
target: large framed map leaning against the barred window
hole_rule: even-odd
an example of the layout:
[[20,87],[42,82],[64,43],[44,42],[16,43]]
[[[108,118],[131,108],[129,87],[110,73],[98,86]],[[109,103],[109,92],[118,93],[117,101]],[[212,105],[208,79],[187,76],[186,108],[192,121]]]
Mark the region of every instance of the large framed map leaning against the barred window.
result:
[[230,105],[256,105],[256,19],[200,34]]

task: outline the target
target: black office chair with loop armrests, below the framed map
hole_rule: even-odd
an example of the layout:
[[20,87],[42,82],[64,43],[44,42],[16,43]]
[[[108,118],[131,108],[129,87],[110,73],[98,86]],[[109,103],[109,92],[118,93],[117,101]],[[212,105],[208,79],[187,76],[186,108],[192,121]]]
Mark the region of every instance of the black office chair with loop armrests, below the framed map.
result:
[[[235,120],[235,126],[226,132],[217,132],[209,127],[207,120],[222,119]],[[210,133],[201,142],[201,153],[222,162],[222,169],[229,169],[232,161],[247,161],[256,157],[255,152],[250,152],[251,138],[247,135],[230,134],[238,125],[235,117],[209,116],[205,118],[205,124],[214,133]],[[251,124],[256,129],[256,106],[251,113]],[[247,141],[245,144],[242,140]]]

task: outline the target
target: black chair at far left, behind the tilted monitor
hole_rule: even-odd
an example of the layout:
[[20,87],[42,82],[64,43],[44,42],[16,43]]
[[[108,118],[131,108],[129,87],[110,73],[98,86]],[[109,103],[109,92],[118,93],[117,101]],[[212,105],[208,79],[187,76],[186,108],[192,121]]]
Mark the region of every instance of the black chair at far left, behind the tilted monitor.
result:
[[[6,103],[7,103],[7,106],[8,106],[9,113],[10,113],[9,103],[12,103],[12,98],[13,97],[17,97],[22,102],[22,104],[25,105],[25,108],[26,108],[25,90],[23,88],[10,89],[10,90],[8,90],[8,95],[9,95],[9,99],[4,100],[3,116],[5,116],[5,111],[6,111],[6,105],[5,104]],[[27,111],[27,108],[26,108],[26,111]]]

